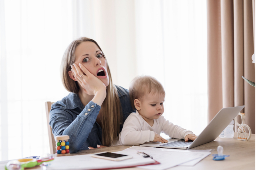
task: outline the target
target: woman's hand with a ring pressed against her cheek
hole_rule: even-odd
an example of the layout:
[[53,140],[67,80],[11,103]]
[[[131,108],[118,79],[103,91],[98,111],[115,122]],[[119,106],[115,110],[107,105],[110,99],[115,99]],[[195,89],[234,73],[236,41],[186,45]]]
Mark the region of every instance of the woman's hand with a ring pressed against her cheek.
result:
[[73,66],[71,66],[71,70],[76,78],[76,81],[84,88],[84,92],[91,96],[96,95],[96,93],[100,91],[106,92],[106,86],[104,83],[90,73],[82,64],[79,63],[79,65],[80,67],[74,63]]

